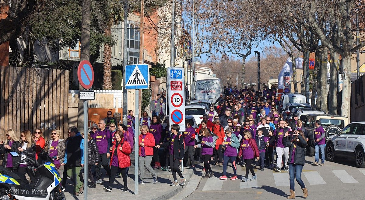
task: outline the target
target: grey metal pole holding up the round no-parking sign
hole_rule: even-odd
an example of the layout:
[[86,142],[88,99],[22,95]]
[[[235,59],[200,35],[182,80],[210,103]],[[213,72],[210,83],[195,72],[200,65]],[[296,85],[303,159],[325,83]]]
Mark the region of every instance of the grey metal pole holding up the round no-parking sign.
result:
[[88,199],[88,101],[84,101],[84,199]]

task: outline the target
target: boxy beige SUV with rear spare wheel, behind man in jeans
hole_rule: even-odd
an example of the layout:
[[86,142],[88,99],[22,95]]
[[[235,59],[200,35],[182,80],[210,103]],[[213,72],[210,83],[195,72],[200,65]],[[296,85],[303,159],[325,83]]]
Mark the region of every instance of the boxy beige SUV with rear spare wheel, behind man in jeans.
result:
[[[325,115],[325,114],[308,114],[306,117],[306,121],[304,122],[304,127],[307,130],[309,141],[307,145],[307,155],[314,155],[314,129],[315,129],[315,121],[319,120],[322,123],[322,127],[325,132],[325,138],[334,134],[334,128],[337,127],[337,130],[342,129],[347,124],[349,124],[349,118],[339,116],[339,115]],[[328,129],[328,130],[327,130]]]

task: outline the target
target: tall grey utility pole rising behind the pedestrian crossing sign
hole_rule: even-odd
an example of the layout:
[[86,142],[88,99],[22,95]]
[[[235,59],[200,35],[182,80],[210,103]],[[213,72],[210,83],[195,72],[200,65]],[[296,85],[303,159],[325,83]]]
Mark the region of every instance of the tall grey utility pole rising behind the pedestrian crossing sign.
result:
[[[128,49],[127,49],[127,37],[128,37],[128,0],[124,0],[124,23],[123,23],[123,79],[126,78],[126,65],[128,64]],[[123,87],[123,124],[127,125],[127,115],[128,115],[128,93],[125,87]]]

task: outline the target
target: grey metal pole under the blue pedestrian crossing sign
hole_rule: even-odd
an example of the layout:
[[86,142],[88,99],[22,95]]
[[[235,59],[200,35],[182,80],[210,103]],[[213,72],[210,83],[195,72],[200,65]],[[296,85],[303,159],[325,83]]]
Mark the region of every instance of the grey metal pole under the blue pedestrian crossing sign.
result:
[[138,136],[139,136],[139,104],[138,102],[138,96],[139,96],[139,90],[135,90],[135,127],[134,127],[134,194],[138,195],[138,154],[139,154],[139,145],[138,145]]

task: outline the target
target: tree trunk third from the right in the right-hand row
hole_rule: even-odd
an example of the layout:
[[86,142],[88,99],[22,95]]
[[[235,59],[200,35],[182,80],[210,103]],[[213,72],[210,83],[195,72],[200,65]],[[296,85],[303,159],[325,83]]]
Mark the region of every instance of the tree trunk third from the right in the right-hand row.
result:
[[327,61],[328,61],[328,48],[324,47],[322,52],[322,63],[321,63],[321,71],[320,71],[320,110],[328,113],[327,108]]

